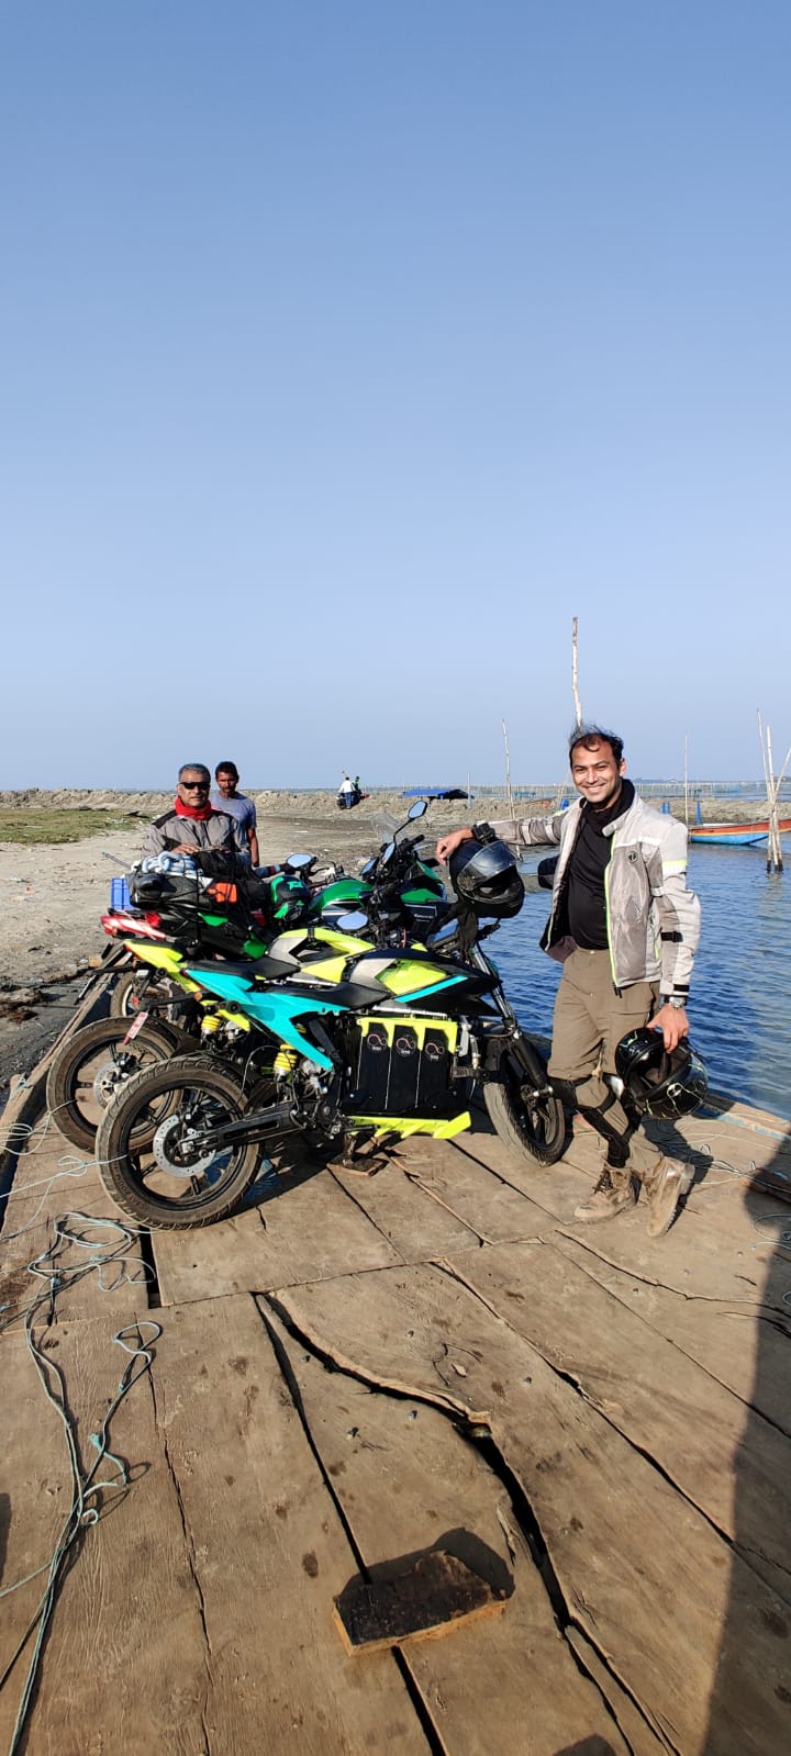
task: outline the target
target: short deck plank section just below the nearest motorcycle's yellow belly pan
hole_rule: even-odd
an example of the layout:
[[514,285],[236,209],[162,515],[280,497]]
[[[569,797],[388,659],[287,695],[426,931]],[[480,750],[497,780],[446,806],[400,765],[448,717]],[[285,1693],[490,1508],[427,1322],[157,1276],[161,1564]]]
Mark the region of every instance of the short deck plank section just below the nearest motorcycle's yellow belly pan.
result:
[[350,1201],[367,1215],[404,1263],[429,1263],[452,1250],[476,1250],[480,1236],[454,1212],[431,1199],[404,1175],[408,1159],[392,1157],[373,1177],[332,1166],[332,1177]]

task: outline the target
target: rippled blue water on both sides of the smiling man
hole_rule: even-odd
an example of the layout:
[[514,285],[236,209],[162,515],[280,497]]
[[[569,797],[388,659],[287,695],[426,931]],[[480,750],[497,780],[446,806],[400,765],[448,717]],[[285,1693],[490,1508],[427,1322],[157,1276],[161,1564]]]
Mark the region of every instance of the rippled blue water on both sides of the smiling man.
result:
[[[526,855],[534,871],[547,848]],[[689,1003],[691,1041],[714,1090],[791,1117],[791,850],[782,874],[761,848],[689,848],[703,908]],[[548,892],[492,934],[490,950],[522,1024],[552,1031],[559,966],[538,948]]]

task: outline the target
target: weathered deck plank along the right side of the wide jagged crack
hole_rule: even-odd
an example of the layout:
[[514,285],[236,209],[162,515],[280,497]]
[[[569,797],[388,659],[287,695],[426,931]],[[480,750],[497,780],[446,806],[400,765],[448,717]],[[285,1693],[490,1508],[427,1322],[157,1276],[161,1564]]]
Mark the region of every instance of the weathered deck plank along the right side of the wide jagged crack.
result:
[[[436,1268],[290,1287],[288,1319],[341,1366],[445,1407],[489,1410],[494,1442],[538,1519],[570,1616],[654,1730],[717,1756],[765,1756],[787,1737],[786,1605],[615,1428]],[[461,1373],[461,1375],[459,1375]],[[738,1617],[728,1675],[722,1633]]]

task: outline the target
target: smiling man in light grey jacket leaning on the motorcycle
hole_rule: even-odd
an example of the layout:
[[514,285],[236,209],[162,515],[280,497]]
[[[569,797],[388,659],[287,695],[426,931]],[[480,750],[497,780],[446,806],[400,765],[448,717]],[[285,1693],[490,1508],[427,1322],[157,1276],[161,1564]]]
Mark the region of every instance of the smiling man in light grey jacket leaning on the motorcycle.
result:
[[[561,850],[541,938],[548,955],[562,962],[548,1071],[606,1150],[603,1173],[575,1217],[603,1220],[626,1212],[636,1178],[649,1199],[649,1236],[659,1238],[689,1187],[689,1169],[659,1152],[605,1075],[613,1075],[615,1047],[629,1031],[650,1022],[668,1052],[689,1033],[700,903],[686,880],[687,832],[635,794],[622,739],[613,732],[575,727],[570,764],[582,797],[568,811],[490,829],[504,841]],[[473,834],[457,829],[445,836],[438,857],[446,860]]]

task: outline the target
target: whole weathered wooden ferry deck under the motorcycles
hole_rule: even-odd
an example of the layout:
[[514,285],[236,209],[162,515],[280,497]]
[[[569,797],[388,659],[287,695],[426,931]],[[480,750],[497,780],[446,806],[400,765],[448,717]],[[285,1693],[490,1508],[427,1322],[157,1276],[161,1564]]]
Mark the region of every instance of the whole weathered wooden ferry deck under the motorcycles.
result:
[[[791,1747],[791,1140],[693,1117],[673,1229],[483,1119],[373,1177],[283,1157],[142,1241],[42,1119],[0,1238],[5,1666],[109,1422],[18,1747],[28,1756],[780,1756]],[[58,1282],[30,1273],[56,1240]],[[74,1217],[84,1215],[84,1217]],[[70,1241],[81,1236],[84,1247]],[[116,1259],[97,1266],[100,1254]],[[156,1328],[155,1328],[156,1326]],[[56,1380],[51,1380],[56,1389]],[[100,1461],[111,1479],[116,1465]],[[350,1654],[334,1598],[446,1551],[492,1614]],[[415,1575],[420,1579],[420,1568]],[[33,1635],[0,1691],[11,1747]]]

